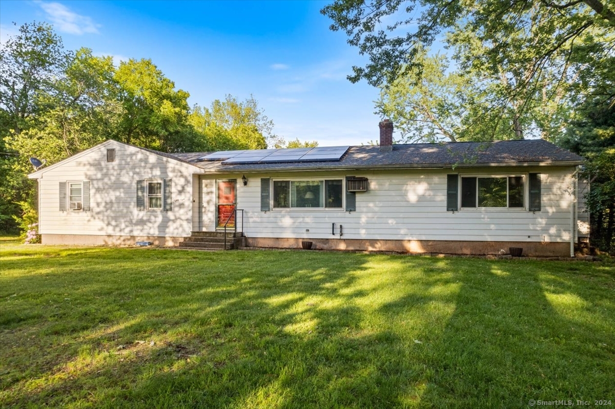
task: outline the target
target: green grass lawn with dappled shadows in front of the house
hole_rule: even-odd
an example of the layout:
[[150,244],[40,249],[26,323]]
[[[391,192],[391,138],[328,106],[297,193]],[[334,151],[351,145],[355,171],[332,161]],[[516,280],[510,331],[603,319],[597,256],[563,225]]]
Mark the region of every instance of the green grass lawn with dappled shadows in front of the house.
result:
[[612,262],[0,247],[1,407],[615,405]]

